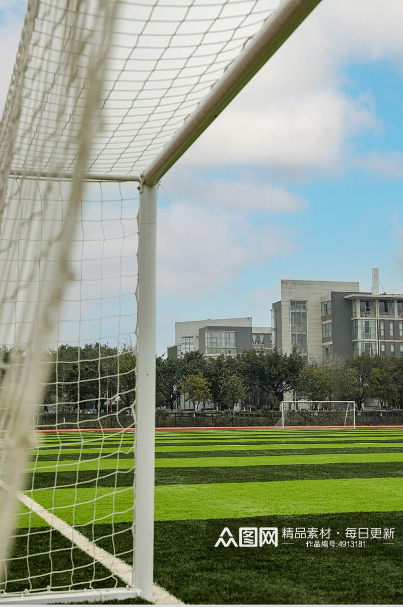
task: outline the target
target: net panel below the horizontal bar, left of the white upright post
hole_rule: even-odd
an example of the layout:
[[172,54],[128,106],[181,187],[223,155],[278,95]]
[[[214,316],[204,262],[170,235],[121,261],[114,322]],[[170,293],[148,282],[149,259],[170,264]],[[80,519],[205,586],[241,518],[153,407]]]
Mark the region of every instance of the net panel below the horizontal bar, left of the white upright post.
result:
[[[98,563],[99,557],[83,554],[76,537],[61,537],[57,519],[66,521],[92,543],[105,546],[113,557],[131,563],[138,240],[138,197],[134,192],[137,190],[131,183],[86,185],[73,222],[66,260],[69,284],[58,306],[55,307],[50,294],[53,311],[49,327],[45,327],[44,322],[36,319],[35,290],[39,274],[51,288],[56,276],[49,268],[55,266],[55,271],[59,271],[58,263],[52,261],[58,239],[52,240],[52,245],[49,242],[51,232],[55,236],[63,231],[69,188],[67,183],[58,183],[50,196],[49,188],[53,189],[55,184],[35,180],[36,201],[32,203],[22,196],[19,180],[13,180],[12,186],[20,192],[18,210],[15,197],[12,208],[21,219],[17,222],[18,248],[13,253],[11,273],[15,272],[14,288],[16,279],[18,284],[27,283],[27,288],[19,290],[12,302],[5,298],[2,302],[0,327],[5,375],[0,411],[5,434],[0,468],[1,520],[15,510],[9,503],[13,496],[10,486],[23,488],[27,499],[20,495],[19,514],[14,522],[16,531],[5,534],[8,540],[12,538],[14,546],[3,560],[0,589],[46,591],[48,587],[72,590],[122,585],[121,578]],[[51,211],[44,217],[45,194]],[[33,222],[34,215],[37,219]],[[4,245],[6,226],[12,231],[15,223],[15,217],[9,219],[5,211]],[[29,230],[24,237],[23,225]],[[9,255],[11,241],[10,232],[4,246]],[[35,262],[32,255],[24,252],[24,245],[43,251],[44,242],[48,251],[46,260]],[[48,269],[42,270],[42,265]],[[10,280],[5,282],[10,286]],[[15,321],[10,322],[11,319]],[[44,348],[39,336],[46,330],[48,339]],[[15,339],[16,331],[19,339]],[[38,334],[36,341],[32,340],[32,333]],[[39,374],[43,382],[34,393],[33,373]],[[32,409],[34,404],[39,405],[36,410]],[[27,429],[32,426],[35,432],[27,444]],[[19,436],[25,461],[15,461]],[[21,470],[25,470],[23,487]],[[44,518],[43,514],[50,514],[51,518]],[[11,524],[12,521],[8,529]]]

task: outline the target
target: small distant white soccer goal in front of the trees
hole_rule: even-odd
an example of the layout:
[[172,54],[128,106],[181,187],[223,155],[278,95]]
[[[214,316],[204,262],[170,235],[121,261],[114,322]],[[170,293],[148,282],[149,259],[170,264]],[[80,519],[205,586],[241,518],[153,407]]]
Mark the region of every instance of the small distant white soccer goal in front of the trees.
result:
[[283,401],[274,428],[356,427],[354,401]]

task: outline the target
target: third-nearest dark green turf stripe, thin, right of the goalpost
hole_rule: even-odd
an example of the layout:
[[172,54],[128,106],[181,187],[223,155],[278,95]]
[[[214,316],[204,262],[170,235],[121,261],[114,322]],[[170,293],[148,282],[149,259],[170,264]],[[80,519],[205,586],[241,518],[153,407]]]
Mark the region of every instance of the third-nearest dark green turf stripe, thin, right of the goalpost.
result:
[[[259,451],[259,450],[245,450],[245,451],[199,451],[199,452],[168,452],[168,453],[156,453],[157,459],[163,458],[199,458],[199,457],[271,457],[273,455],[325,455],[328,453],[402,453],[401,448],[393,447],[367,447],[361,449],[286,449],[286,450],[270,450],[270,451]],[[197,464],[195,464],[197,465]]]

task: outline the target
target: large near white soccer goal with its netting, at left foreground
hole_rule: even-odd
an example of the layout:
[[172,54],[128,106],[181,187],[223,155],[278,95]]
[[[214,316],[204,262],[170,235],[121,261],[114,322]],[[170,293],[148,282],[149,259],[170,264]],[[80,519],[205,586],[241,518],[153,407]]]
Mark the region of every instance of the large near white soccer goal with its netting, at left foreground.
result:
[[319,1],[29,0],[0,123],[0,602],[174,601],[158,183]]

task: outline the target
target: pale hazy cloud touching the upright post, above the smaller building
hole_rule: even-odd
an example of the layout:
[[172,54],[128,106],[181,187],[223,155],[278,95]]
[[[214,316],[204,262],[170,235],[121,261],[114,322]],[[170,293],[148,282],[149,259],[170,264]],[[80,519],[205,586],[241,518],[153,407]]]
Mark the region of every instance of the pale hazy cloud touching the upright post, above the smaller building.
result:
[[245,215],[174,203],[158,214],[157,290],[197,299],[251,265],[267,263],[293,245],[278,228],[257,228]]

